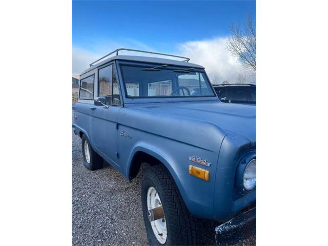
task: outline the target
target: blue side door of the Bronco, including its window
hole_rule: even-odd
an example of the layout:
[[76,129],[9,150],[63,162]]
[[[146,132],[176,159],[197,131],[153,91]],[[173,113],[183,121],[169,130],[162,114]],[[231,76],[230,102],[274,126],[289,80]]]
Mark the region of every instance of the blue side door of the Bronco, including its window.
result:
[[119,86],[114,64],[98,69],[97,94],[106,98],[106,105],[93,106],[91,138],[93,147],[106,161],[118,166],[117,152],[117,116],[121,109]]

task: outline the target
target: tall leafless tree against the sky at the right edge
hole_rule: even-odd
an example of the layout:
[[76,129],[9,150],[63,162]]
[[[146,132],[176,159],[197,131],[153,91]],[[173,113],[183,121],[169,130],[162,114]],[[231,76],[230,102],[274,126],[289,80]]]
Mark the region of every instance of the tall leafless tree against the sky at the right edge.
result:
[[253,25],[252,15],[248,13],[240,25],[230,26],[231,37],[227,40],[227,48],[239,58],[241,64],[256,71],[256,29]]

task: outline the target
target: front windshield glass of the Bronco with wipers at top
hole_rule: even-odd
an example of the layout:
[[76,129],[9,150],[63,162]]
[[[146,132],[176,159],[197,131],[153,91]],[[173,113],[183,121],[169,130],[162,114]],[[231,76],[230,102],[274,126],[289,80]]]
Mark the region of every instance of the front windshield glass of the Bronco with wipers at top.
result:
[[207,76],[196,68],[121,65],[121,72],[130,98],[215,96]]

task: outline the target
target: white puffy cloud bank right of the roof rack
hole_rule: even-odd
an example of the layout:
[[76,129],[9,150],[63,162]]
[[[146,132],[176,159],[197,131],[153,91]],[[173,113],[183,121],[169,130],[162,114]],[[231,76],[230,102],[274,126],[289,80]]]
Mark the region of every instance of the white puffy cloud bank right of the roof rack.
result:
[[221,84],[228,80],[229,83],[237,83],[238,78],[243,77],[247,82],[254,81],[249,71],[238,62],[226,48],[227,38],[218,37],[213,39],[191,41],[178,46],[179,53],[190,57],[191,63],[202,65],[211,82]]

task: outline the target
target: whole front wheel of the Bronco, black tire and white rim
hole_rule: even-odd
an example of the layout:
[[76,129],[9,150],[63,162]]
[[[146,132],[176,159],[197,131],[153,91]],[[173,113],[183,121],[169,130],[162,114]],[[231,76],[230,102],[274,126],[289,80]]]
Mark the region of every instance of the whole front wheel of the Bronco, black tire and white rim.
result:
[[214,245],[212,221],[190,214],[165,167],[155,165],[145,171],[141,199],[151,245]]

